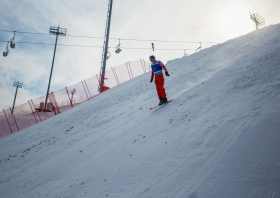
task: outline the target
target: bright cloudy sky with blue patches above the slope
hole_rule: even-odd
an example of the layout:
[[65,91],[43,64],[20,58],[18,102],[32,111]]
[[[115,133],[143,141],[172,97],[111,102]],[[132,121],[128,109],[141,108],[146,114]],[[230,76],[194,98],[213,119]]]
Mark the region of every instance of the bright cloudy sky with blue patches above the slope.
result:
[[[46,94],[55,44],[55,36],[49,35],[50,26],[67,28],[67,36],[58,38],[58,44],[64,46],[57,46],[50,91],[99,73],[108,3],[107,0],[1,0],[3,52],[6,41],[14,36],[7,31],[43,34],[16,33],[15,49],[10,49],[7,57],[1,56],[0,108],[12,107],[14,81],[23,83],[16,105]],[[279,8],[278,0],[114,0],[107,69],[139,58],[148,60],[151,54],[163,63],[185,53],[190,55],[199,48],[199,42],[202,48],[208,48],[254,31],[249,12],[264,17],[265,26],[279,23]],[[116,54],[119,42],[122,51]]]

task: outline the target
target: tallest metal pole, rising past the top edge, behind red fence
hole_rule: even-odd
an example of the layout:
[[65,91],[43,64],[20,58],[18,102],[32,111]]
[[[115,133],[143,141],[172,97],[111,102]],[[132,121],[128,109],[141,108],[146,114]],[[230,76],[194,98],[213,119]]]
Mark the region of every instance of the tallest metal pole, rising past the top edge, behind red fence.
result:
[[100,93],[103,91],[103,85],[104,85],[104,79],[105,79],[105,70],[106,70],[106,60],[107,60],[107,52],[108,52],[108,44],[109,44],[109,33],[110,33],[112,6],[113,6],[113,0],[110,0],[110,11],[109,11],[109,18],[108,18],[108,25],[107,25],[106,44],[105,44],[105,51],[104,51],[104,54],[103,54],[102,73],[100,74],[101,75],[100,90],[99,90]]

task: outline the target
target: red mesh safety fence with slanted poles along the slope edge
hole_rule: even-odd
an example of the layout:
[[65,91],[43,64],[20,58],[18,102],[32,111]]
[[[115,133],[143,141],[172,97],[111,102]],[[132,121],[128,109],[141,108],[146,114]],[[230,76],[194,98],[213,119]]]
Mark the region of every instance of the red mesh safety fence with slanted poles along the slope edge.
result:
[[[150,71],[144,60],[127,62],[105,72],[103,91]],[[77,84],[62,88],[48,95],[32,99],[14,109],[0,111],[0,138],[32,126],[38,122],[71,109],[99,94],[99,76],[95,75]]]

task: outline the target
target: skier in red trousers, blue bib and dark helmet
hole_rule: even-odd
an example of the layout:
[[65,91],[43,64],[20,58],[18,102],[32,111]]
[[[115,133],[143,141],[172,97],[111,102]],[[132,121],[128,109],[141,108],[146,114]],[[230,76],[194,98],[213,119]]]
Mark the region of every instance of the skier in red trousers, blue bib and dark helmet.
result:
[[166,93],[165,93],[165,89],[164,89],[164,78],[163,78],[162,69],[164,69],[166,76],[170,76],[170,75],[169,75],[166,67],[164,66],[164,64],[161,61],[156,60],[154,55],[151,55],[149,57],[149,59],[151,61],[151,67],[152,67],[152,76],[151,76],[150,83],[153,82],[153,79],[155,76],[155,85],[156,85],[156,89],[157,89],[158,98],[160,100],[159,105],[162,105],[162,104],[168,102]]

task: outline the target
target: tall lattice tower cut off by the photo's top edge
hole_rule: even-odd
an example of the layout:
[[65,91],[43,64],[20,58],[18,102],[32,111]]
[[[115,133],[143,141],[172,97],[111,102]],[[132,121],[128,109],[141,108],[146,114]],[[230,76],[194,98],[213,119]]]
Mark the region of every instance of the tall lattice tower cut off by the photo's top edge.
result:
[[109,57],[107,57],[107,56],[108,56],[108,44],[109,44],[112,6],[113,6],[113,0],[109,0],[105,37],[104,37],[104,44],[103,44],[103,52],[102,52],[102,61],[101,61],[100,76],[99,76],[99,93],[101,93],[103,91],[104,80],[105,80],[106,61],[110,57],[110,56]]

